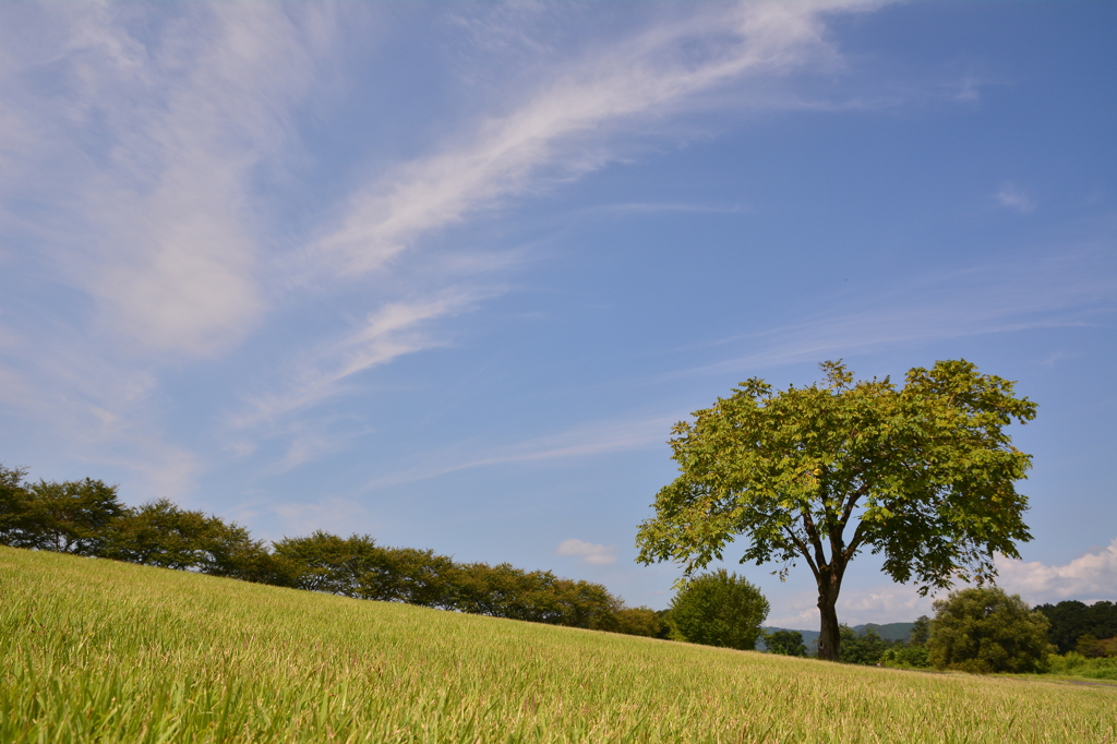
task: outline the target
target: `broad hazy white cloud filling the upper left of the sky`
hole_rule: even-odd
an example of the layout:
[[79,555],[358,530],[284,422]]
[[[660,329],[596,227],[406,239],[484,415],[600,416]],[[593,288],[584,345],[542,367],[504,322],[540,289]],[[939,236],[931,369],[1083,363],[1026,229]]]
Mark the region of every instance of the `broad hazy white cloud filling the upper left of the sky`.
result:
[[201,462],[163,442],[160,372],[261,318],[255,180],[287,152],[330,16],[0,8],[0,260],[38,284],[32,313],[0,318],[2,398],[59,451],[189,492]]

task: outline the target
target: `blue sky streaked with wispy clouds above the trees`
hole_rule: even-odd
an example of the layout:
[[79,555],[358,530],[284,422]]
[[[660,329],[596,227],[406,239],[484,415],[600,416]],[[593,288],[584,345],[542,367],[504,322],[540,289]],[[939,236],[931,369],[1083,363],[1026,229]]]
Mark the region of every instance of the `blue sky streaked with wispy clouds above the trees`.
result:
[[[663,607],[672,422],[965,357],[1117,599],[1111,3],[0,6],[0,461]],[[741,566],[813,628],[805,569]],[[843,621],[929,611],[863,555]]]

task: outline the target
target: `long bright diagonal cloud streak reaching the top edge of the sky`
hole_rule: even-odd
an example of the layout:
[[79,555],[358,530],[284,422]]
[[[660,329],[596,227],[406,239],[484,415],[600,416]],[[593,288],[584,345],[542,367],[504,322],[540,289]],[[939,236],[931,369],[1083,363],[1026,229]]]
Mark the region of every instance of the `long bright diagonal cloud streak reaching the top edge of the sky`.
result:
[[[407,163],[353,197],[314,246],[318,260],[361,274],[421,235],[611,162],[614,125],[661,118],[694,96],[751,74],[779,75],[832,49],[821,11],[863,3],[745,3],[656,26],[564,66],[471,139]],[[603,136],[604,135],[604,136]]]

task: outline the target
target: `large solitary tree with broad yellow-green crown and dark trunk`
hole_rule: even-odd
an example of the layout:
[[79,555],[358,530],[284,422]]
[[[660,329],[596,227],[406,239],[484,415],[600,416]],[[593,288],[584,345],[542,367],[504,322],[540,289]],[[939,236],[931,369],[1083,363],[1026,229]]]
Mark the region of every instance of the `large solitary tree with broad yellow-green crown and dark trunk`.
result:
[[818,586],[819,657],[837,660],[836,604],[846,569],[882,554],[895,581],[919,592],[996,576],[995,553],[1031,540],[1016,480],[1031,457],[1004,428],[1035,416],[1013,383],[964,360],[853,381],[840,362],[822,383],[734,389],[694,422],[675,426],[679,476],[656,497],[637,537],[639,561],[677,561],[686,575],[720,560],[737,537],[741,562],[804,561]]

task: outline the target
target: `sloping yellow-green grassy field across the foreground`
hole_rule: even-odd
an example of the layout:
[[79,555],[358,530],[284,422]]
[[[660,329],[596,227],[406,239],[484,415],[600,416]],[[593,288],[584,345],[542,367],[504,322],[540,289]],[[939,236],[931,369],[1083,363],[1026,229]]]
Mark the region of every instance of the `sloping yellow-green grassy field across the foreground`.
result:
[[1117,688],[846,667],[0,547],[0,742],[1117,742]]

